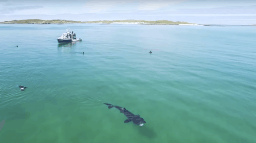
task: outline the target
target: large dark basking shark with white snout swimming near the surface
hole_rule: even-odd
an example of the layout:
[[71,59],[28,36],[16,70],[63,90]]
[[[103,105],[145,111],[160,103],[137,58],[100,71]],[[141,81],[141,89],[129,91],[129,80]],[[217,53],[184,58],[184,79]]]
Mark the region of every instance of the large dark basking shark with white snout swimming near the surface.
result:
[[139,125],[139,126],[143,126],[144,123],[146,123],[146,121],[140,117],[139,115],[134,115],[133,113],[131,113],[130,111],[126,110],[126,108],[122,108],[119,106],[114,106],[112,104],[108,104],[108,103],[104,103],[106,104],[109,109],[110,108],[117,108],[118,110],[120,110],[121,113],[124,113],[125,116],[128,118],[124,121],[124,123],[128,123],[130,121],[133,121],[134,124]]

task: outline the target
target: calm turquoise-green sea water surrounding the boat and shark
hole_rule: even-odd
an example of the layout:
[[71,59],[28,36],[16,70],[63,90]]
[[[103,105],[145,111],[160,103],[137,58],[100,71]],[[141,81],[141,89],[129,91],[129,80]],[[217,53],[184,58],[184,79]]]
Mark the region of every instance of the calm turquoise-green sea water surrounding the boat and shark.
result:
[[0,143],[256,143],[256,27],[67,26],[0,25]]

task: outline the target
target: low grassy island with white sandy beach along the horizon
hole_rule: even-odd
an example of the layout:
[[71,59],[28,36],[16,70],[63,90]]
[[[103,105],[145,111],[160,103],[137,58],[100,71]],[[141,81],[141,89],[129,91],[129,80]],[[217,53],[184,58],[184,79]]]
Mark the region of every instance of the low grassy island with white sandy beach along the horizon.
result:
[[72,20],[41,20],[41,19],[26,19],[26,20],[12,20],[12,21],[4,21],[2,24],[62,24],[62,23],[138,23],[138,24],[170,24],[170,25],[178,25],[178,24],[195,24],[195,23],[187,23],[187,22],[173,22],[168,20],[157,20],[157,21],[146,21],[146,20],[103,20],[103,21],[72,21]]

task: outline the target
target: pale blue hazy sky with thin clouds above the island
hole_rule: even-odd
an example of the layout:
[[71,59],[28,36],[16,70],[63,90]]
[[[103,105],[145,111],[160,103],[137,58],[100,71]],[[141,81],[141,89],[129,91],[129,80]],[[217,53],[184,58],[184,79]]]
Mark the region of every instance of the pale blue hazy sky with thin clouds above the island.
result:
[[256,24],[256,0],[0,0],[0,21],[170,20]]

